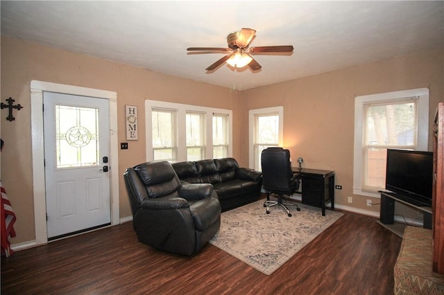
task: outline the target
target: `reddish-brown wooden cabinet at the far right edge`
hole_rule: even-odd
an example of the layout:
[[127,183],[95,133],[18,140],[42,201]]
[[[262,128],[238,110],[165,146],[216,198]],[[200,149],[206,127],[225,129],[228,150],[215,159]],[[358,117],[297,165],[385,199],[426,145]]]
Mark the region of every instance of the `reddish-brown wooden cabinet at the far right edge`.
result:
[[433,271],[444,274],[444,102],[439,102],[434,119],[434,186],[433,218]]

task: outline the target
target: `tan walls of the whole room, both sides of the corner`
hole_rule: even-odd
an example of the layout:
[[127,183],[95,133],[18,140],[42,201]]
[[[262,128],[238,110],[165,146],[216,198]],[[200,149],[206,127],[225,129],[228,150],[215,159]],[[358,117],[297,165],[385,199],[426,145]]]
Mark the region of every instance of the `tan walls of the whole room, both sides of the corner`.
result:
[[[139,141],[119,150],[119,175],[145,159],[144,100],[164,100],[233,111],[233,157],[248,166],[248,110],[284,106],[284,146],[305,167],[336,171],[336,203],[368,210],[352,196],[354,98],[402,89],[430,89],[430,122],[443,96],[443,51],[427,51],[292,80],[249,91],[232,91],[134,66],[78,55],[8,37],[1,38],[1,100],[12,97],[24,109],[6,121],[1,111],[1,179],[17,215],[12,244],[34,240],[30,81],[42,80],[117,92],[119,142],[125,140],[124,105],[139,107]],[[429,149],[431,149],[431,140]],[[119,177],[120,217],[130,215]],[[379,200],[375,200],[378,202]],[[379,206],[371,208],[379,211]]]

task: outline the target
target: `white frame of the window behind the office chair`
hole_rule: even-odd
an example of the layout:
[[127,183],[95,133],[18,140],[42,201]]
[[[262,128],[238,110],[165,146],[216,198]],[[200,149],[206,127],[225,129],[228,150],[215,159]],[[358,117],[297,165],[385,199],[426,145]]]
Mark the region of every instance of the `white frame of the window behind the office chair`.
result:
[[251,169],[255,168],[255,117],[260,115],[267,115],[271,113],[277,113],[279,116],[279,138],[278,146],[283,147],[284,143],[284,107],[266,107],[264,109],[250,109],[248,111],[248,166]]

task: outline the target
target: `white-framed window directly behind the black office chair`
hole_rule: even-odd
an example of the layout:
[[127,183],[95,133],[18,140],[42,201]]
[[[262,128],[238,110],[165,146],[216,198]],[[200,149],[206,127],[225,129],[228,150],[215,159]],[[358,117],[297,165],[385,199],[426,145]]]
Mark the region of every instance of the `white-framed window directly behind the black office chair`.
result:
[[250,110],[250,168],[262,170],[262,150],[282,146],[283,114],[283,107]]

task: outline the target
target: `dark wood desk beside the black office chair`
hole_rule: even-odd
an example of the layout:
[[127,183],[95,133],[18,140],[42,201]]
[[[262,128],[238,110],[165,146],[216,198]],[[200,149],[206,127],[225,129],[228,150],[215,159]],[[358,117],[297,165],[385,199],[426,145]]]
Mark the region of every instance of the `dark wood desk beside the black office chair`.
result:
[[302,204],[322,208],[325,216],[325,204],[331,202],[334,210],[334,171],[292,167],[293,173],[301,176]]

